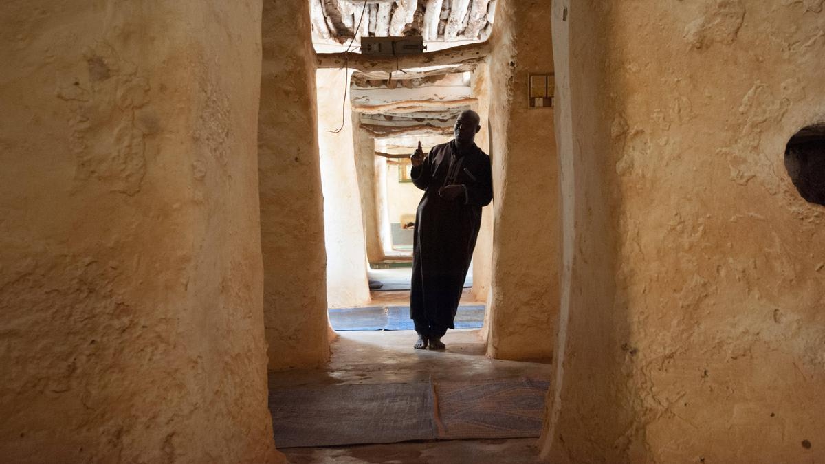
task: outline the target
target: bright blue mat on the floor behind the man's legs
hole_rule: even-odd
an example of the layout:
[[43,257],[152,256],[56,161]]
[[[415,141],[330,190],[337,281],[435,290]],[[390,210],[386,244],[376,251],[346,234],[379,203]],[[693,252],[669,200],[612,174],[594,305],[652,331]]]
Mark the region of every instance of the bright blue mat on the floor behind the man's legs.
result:
[[[331,309],[332,329],[349,330],[414,330],[409,306],[370,306],[367,308]],[[455,315],[456,329],[480,329],[484,322],[484,306],[459,306]]]

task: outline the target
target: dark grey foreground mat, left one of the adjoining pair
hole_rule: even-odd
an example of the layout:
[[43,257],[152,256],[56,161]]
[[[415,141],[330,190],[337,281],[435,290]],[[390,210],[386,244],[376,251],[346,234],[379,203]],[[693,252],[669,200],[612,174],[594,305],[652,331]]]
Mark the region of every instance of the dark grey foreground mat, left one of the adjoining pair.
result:
[[276,447],[330,447],[436,438],[430,382],[273,389]]

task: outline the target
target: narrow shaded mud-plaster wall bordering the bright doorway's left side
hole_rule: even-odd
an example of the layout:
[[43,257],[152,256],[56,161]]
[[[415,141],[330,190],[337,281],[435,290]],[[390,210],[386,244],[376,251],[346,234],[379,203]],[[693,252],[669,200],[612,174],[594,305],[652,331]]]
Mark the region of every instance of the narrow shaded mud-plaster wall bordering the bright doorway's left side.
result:
[[329,357],[309,3],[264,2],[258,172],[270,369]]

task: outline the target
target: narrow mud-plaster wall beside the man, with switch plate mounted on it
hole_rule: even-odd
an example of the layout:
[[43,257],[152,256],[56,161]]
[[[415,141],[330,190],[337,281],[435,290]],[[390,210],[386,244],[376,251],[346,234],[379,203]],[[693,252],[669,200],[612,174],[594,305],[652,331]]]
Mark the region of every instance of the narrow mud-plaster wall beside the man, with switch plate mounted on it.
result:
[[498,2],[490,57],[495,245],[488,355],[550,357],[559,301],[553,110],[527,108],[528,73],[553,72],[549,2]]

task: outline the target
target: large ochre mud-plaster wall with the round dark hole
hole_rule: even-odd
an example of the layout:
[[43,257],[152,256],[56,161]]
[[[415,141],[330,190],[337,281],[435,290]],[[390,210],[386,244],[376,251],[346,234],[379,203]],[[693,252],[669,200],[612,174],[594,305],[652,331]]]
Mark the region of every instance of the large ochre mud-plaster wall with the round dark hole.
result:
[[570,270],[545,452],[822,460],[825,211],[783,155],[825,116],[823,2],[559,3]]

